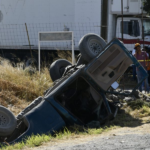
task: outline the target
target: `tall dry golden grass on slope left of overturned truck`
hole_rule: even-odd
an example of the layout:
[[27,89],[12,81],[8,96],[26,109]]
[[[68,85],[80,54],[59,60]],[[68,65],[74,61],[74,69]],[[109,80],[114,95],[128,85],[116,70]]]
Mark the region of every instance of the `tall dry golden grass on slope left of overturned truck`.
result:
[[15,114],[38,96],[43,95],[52,84],[47,68],[39,75],[30,75],[21,67],[14,68],[7,61],[0,65],[0,105]]

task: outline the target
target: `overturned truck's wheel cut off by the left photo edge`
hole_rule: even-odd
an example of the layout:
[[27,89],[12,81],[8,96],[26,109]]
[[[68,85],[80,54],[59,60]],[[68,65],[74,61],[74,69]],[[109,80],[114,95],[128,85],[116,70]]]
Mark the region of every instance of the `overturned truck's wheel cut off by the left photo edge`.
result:
[[0,105],[0,136],[10,135],[16,126],[17,120],[12,112]]

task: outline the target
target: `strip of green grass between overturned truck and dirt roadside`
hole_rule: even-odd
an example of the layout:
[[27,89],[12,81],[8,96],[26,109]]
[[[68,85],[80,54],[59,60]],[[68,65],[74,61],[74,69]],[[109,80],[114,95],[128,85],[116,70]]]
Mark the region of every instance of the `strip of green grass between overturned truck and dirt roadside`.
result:
[[[82,128],[82,131],[80,131]],[[32,135],[28,137],[25,142],[20,142],[15,145],[3,146],[0,150],[21,150],[27,149],[31,147],[40,146],[46,142],[53,142],[58,140],[66,140],[74,137],[81,137],[87,135],[97,135],[102,134],[103,132],[110,131],[112,129],[117,128],[116,126],[105,126],[98,129],[88,129],[80,126],[70,127],[70,129],[65,128],[63,131],[55,132],[54,136],[52,135]]]

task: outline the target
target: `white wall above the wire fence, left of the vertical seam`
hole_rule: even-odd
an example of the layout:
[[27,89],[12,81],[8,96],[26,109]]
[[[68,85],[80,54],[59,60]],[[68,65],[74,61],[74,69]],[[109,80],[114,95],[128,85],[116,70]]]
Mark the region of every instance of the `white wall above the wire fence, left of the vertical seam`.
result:
[[73,4],[70,0],[0,0],[1,23],[72,22]]

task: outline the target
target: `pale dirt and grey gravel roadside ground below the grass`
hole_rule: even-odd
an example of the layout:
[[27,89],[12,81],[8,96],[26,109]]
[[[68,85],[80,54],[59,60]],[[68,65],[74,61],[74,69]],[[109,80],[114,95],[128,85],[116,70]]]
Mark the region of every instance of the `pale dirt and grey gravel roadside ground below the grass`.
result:
[[100,135],[76,136],[73,139],[46,143],[30,150],[150,150],[150,123],[123,127]]

